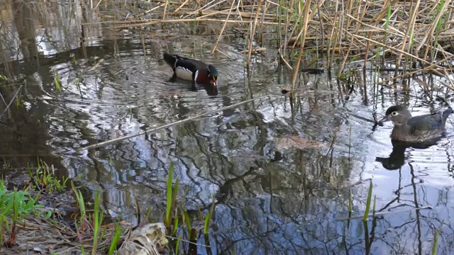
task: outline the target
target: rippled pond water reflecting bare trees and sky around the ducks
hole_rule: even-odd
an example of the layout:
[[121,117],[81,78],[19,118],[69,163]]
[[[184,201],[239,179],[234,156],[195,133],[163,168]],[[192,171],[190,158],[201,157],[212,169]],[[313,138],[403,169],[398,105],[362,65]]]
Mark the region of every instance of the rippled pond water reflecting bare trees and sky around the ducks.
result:
[[[13,13],[13,6],[7,10]],[[414,115],[437,108],[435,96],[452,95],[437,77],[388,87],[375,84],[391,75],[384,72],[354,73],[353,83],[328,72],[301,74],[291,104],[280,90],[292,74],[277,64],[270,46],[266,56],[253,56],[248,77],[238,45],[224,43],[219,46],[224,54],[209,53],[216,36],[207,40],[175,30],[136,33],[93,25],[82,41],[74,26],[65,30],[65,24],[45,26],[33,18],[35,25],[26,32],[37,43],[28,45],[27,53],[28,37],[5,13],[8,35],[20,39],[10,38],[9,49],[2,48],[17,59],[0,72],[24,77],[21,106],[13,103],[0,119],[0,155],[14,169],[41,157],[60,174],[104,191],[103,206],[111,217],[136,223],[136,201],[143,212],[151,206],[155,220],[162,219],[174,162],[184,208],[206,212],[215,200],[214,254],[429,254],[436,232],[439,254],[453,250],[453,117],[448,135],[436,145],[394,151],[392,123],[373,130],[367,121],[396,103]],[[172,70],[162,60],[166,51],[214,64],[218,94],[192,91],[186,81],[170,82]],[[40,55],[39,61],[30,52]],[[1,86],[0,92],[8,102],[17,89]],[[250,98],[257,99],[81,149]],[[4,108],[1,104],[0,111]],[[296,147],[285,147],[288,139],[297,141]],[[344,220],[350,198],[353,215],[364,213],[369,180],[382,214],[366,225],[360,218]]]

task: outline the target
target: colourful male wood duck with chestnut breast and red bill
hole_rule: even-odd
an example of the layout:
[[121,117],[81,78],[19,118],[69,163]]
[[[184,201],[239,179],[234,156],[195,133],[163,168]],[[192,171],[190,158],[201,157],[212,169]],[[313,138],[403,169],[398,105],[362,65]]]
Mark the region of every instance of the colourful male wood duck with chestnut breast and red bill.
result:
[[186,79],[194,81],[198,84],[211,84],[217,86],[218,70],[211,64],[205,64],[199,60],[192,60],[187,57],[180,57],[179,55],[172,55],[167,52],[164,53],[164,60],[173,69],[173,76],[170,79]]

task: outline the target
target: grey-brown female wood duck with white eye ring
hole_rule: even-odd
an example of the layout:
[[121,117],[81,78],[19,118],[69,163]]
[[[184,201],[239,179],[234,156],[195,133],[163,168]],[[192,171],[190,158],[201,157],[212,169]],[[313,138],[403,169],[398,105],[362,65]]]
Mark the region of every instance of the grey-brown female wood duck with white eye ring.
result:
[[391,106],[379,123],[391,120],[394,123],[391,139],[403,142],[428,142],[441,137],[446,119],[453,113],[450,106],[444,111],[411,116],[404,106]]

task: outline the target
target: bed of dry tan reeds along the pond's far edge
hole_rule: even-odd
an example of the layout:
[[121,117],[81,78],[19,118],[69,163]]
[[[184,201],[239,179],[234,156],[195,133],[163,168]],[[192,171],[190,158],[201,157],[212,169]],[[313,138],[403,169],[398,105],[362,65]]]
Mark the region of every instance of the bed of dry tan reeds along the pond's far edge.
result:
[[[338,77],[353,58],[363,60],[364,67],[371,61],[383,67],[385,60],[393,60],[395,77],[402,69],[403,76],[411,75],[406,72],[410,68],[445,77],[451,72],[454,5],[450,0],[162,0],[132,3],[128,10],[116,17],[116,28],[203,22],[221,28],[217,41],[227,26],[243,31],[248,63],[251,53],[261,47],[260,38],[271,36],[289,69],[298,69],[303,53],[316,52],[316,57],[327,56],[327,69],[340,57]],[[217,46],[216,42],[212,53]],[[292,57],[299,60],[296,67],[288,64]]]

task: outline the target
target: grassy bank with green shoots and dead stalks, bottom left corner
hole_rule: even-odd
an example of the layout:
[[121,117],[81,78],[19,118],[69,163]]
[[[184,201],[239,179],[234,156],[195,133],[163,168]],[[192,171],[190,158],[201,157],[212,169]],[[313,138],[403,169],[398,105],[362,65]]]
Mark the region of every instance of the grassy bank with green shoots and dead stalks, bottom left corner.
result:
[[[105,215],[101,209],[101,191],[94,192],[93,209],[89,210],[82,192],[71,181],[76,212],[64,219],[56,217],[62,212],[57,209],[61,199],[67,204],[74,203],[71,190],[65,185],[68,177],[57,178],[53,166],[39,159],[38,167],[28,165],[26,169],[31,180],[24,191],[17,188],[8,191],[0,181],[0,251],[5,246],[23,251],[24,245],[33,243],[35,248],[49,254],[116,254],[118,244],[127,239],[131,225],[121,222],[102,225]],[[57,196],[54,193],[58,193]],[[50,205],[55,208],[48,208],[38,201],[58,202]]]

